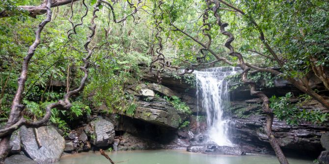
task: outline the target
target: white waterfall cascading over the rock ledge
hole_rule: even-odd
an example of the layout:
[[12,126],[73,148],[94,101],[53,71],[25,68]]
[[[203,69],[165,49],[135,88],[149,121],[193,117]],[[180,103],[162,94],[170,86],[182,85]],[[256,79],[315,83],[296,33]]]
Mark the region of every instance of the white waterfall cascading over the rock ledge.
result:
[[198,103],[207,114],[207,133],[210,141],[220,146],[232,145],[227,136],[229,120],[223,116],[230,98],[224,78],[239,70],[237,67],[218,67],[195,71]]

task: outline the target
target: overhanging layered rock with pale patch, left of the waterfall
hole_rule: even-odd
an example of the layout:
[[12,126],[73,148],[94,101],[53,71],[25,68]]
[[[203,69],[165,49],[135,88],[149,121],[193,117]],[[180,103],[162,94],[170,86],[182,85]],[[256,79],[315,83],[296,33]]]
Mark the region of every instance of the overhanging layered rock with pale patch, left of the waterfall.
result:
[[[126,92],[135,95],[137,100],[135,101],[137,105],[136,111],[133,116],[124,111],[115,111],[117,114],[173,129],[177,129],[182,123],[181,121],[186,120],[188,117],[184,112],[175,109],[171,103],[161,97],[180,96],[180,94],[173,92],[167,87],[154,83],[147,85],[139,84],[128,87]],[[155,96],[156,94],[158,96]]]

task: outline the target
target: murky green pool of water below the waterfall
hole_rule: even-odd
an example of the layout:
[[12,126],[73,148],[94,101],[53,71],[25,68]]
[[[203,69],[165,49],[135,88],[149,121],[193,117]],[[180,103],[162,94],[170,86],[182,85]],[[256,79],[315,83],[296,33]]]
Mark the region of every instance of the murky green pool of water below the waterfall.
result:
[[[275,156],[225,156],[190,153],[185,150],[113,151],[107,153],[117,164],[279,164]],[[290,164],[313,164],[312,161],[288,159]],[[99,153],[65,155],[56,164],[110,164]]]

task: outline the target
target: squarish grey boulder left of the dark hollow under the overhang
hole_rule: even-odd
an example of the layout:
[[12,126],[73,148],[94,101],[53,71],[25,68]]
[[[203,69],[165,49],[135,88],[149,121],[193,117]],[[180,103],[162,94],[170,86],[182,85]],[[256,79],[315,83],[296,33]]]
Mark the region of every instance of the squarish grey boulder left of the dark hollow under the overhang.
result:
[[114,126],[110,121],[100,118],[98,120],[91,121],[90,125],[93,129],[90,135],[91,144],[98,147],[103,147],[114,142],[115,131]]

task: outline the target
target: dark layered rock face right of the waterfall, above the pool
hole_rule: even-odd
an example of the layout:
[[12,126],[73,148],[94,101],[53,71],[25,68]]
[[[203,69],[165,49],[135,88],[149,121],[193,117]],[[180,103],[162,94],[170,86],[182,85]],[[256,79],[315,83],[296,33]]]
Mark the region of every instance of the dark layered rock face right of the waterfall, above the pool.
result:
[[[231,102],[231,138],[232,141],[243,146],[247,152],[271,151],[264,131],[266,117],[262,114],[261,107],[259,99]],[[310,123],[293,126],[276,118],[274,118],[272,129],[283,149],[305,154],[320,153],[322,150],[320,138],[329,131],[327,126]]]

